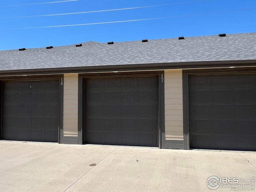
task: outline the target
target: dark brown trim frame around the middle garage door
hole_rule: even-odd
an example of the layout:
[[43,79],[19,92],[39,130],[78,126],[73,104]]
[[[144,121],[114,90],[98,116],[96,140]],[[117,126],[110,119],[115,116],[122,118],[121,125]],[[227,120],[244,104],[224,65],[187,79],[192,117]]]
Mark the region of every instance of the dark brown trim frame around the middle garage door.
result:
[[[161,75],[162,74],[162,75]],[[164,148],[162,144],[164,133],[164,76],[163,71],[150,71],[150,72],[119,72],[118,74],[79,74],[78,76],[78,144],[85,143],[85,82],[86,78],[124,78],[124,77],[146,77],[158,76],[158,132],[159,132],[159,148]]]

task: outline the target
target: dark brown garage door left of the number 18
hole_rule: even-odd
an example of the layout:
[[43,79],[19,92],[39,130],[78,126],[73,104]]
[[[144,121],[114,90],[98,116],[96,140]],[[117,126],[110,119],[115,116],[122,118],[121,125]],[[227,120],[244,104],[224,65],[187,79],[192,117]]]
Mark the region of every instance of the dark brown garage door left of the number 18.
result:
[[2,139],[58,142],[57,80],[3,82]]

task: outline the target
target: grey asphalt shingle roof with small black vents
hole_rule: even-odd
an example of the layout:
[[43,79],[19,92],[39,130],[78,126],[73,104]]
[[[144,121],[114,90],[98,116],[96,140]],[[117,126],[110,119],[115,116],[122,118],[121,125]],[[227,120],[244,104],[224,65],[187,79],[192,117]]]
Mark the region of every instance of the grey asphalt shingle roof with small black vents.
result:
[[256,60],[256,33],[5,50],[0,71],[230,60]]

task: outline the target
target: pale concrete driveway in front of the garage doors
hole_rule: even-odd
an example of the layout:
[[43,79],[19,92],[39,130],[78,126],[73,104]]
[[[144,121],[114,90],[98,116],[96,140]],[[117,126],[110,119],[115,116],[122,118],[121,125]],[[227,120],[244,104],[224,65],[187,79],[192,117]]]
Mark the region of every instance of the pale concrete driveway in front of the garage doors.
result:
[[0,141],[2,192],[232,190],[210,176],[252,186],[256,153]]

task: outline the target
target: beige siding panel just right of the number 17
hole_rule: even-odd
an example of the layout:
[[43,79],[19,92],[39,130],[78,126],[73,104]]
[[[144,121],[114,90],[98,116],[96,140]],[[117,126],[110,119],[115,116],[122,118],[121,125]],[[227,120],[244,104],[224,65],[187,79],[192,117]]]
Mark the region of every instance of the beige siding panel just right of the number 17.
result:
[[165,139],[183,140],[182,70],[164,71]]

